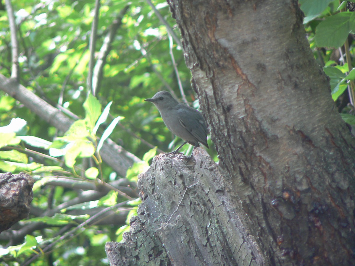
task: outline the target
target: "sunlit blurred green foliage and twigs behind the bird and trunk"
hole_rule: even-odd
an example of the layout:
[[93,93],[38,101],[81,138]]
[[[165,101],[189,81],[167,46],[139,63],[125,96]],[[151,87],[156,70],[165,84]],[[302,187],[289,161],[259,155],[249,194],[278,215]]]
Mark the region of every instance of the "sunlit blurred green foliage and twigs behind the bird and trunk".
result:
[[[355,27],[353,13],[346,11],[348,2],[300,0],[299,3],[305,13],[310,47],[330,77],[330,94],[344,120],[355,124],[352,104],[355,73],[351,72]],[[106,265],[105,243],[122,239],[140,202],[135,200],[138,174],[147,170],[156,153],[171,151],[182,143],[174,139],[158,110],[144,99],[159,90],[174,92],[181,99],[181,82],[189,103],[198,107],[180,33],[164,0],[100,1],[94,54],[97,59],[111,27],[118,26],[109,43],[111,49],[104,57],[96,100],[87,97],[95,2],[16,0],[12,1],[12,7],[20,45],[20,84],[49,104],[69,111],[67,115],[82,123],[76,123],[75,130],[60,132],[0,91],[0,171],[25,171],[36,181],[28,219],[0,235],[0,261],[4,265]],[[5,77],[11,74],[10,34],[2,0],[0,74]],[[103,111],[105,106],[107,112]],[[97,115],[93,115],[95,112]],[[104,118],[100,123],[96,122],[99,115]],[[99,126],[97,131],[95,123]],[[88,135],[73,134],[81,130]],[[120,176],[100,160],[98,152],[92,152],[90,147],[97,148],[97,137],[103,137],[104,132],[142,160],[136,161],[126,176]],[[75,141],[85,143],[88,149],[78,145],[80,152],[76,148],[76,155],[72,155],[65,147]],[[208,144],[209,154],[218,161],[210,138]],[[62,154],[55,156],[50,148]],[[190,153],[191,148],[185,145],[182,151]],[[91,160],[86,159],[90,157]],[[118,189],[109,187],[115,186],[115,181],[121,182]],[[73,184],[67,185],[69,182]],[[88,187],[93,184],[97,192],[103,193],[94,200],[80,200],[86,199],[86,190],[74,184]],[[102,184],[106,190],[100,187]],[[120,193],[128,193],[128,188],[132,190],[130,196]],[[102,219],[91,223],[95,215]],[[34,224],[40,228],[31,227]]]

